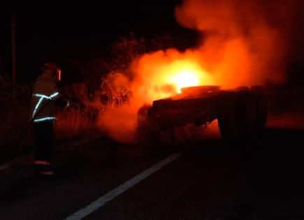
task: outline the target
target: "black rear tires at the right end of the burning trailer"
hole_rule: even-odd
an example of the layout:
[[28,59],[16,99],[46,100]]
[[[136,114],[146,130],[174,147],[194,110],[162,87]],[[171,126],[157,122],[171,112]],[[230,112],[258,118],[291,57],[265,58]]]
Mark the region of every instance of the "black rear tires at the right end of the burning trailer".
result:
[[223,94],[221,103],[217,119],[224,140],[237,145],[258,140],[267,120],[263,87],[239,87]]

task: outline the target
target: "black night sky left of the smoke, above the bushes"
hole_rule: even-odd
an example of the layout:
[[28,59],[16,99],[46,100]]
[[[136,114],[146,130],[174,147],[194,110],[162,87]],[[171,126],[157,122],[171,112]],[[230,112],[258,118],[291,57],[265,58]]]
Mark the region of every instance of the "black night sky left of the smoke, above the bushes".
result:
[[10,1],[1,6],[0,57],[9,73],[10,17],[15,14],[18,82],[33,81],[38,66],[47,60],[56,61],[68,75],[77,78],[78,73],[71,73],[71,59],[85,61],[92,56],[104,56],[119,36],[127,36],[131,31],[148,40],[170,35],[186,42],[188,37],[194,41],[195,32],[175,21],[174,9],[180,2]]

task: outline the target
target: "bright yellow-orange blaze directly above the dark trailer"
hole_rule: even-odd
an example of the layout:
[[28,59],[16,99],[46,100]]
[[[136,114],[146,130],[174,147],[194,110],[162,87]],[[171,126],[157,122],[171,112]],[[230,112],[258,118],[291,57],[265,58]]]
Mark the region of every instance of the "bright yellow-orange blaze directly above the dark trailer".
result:
[[[180,93],[183,87],[214,85],[212,75],[205,71],[200,54],[193,50],[158,51],[140,57],[133,82],[133,101],[151,103]],[[141,102],[140,102],[141,100]]]

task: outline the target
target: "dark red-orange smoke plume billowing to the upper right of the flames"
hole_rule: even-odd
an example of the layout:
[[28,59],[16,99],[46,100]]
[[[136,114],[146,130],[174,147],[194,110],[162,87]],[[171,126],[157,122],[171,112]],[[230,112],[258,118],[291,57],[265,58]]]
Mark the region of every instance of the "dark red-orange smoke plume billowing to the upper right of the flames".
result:
[[[175,15],[202,31],[199,49],[224,86],[284,82],[300,37],[303,1],[184,0]],[[302,32],[302,33],[301,33]]]

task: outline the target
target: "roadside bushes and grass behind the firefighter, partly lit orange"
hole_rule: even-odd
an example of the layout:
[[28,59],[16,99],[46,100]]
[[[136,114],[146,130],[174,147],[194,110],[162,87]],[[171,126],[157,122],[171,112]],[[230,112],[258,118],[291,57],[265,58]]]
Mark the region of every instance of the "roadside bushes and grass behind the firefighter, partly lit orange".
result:
[[[109,106],[120,108],[131,101],[127,82],[132,80],[133,73],[129,66],[131,61],[147,52],[145,44],[144,38],[136,38],[134,34],[120,36],[117,42],[110,46],[108,59],[94,57],[94,60],[85,64],[94,66],[87,68],[90,73],[86,74],[91,78],[94,75],[95,85],[85,80],[61,87],[62,93],[73,105],[57,111],[57,141],[88,138],[103,133],[97,126],[99,116]],[[29,103],[34,82],[29,85],[17,85],[14,101],[9,74],[3,69],[0,70],[0,152],[5,156],[11,152],[27,150],[33,145],[29,125]]]

